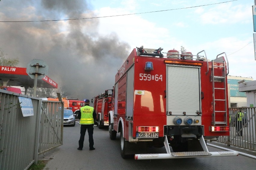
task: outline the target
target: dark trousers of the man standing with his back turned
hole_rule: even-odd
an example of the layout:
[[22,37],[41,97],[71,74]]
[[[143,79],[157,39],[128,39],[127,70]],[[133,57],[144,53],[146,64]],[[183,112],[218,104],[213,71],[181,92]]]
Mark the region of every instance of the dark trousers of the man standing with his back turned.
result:
[[93,148],[93,145],[94,145],[94,142],[93,142],[93,124],[91,124],[91,125],[81,125],[80,139],[78,141],[79,148],[84,147],[84,135],[85,135],[86,130],[88,130],[89,147],[91,149],[91,148]]

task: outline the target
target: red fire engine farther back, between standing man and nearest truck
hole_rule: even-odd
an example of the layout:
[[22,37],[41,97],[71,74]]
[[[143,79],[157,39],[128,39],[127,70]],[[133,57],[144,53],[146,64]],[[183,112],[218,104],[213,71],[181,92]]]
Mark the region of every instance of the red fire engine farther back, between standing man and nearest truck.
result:
[[[108,126],[108,112],[111,110],[111,96],[112,93],[108,93],[110,90],[105,90],[105,93],[102,93],[94,98],[94,110],[97,114],[96,125],[99,129],[104,126]],[[92,99],[93,102],[93,99]]]

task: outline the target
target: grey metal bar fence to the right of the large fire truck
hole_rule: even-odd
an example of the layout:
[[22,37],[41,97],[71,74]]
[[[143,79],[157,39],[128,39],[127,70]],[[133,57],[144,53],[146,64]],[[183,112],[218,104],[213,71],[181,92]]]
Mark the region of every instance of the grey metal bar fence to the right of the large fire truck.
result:
[[[239,110],[243,113],[242,121],[237,119]],[[256,150],[256,107],[229,108],[229,114],[230,136],[220,136],[218,142]]]

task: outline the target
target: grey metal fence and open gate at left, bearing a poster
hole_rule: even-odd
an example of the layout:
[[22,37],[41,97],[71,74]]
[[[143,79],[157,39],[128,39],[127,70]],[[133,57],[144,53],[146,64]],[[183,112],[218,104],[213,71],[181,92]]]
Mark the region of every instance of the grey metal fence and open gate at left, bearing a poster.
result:
[[[23,117],[18,97],[31,98],[33,116]],[[38,154],[62,145],[63,103],[0,89],[0,169],[23,170]]]

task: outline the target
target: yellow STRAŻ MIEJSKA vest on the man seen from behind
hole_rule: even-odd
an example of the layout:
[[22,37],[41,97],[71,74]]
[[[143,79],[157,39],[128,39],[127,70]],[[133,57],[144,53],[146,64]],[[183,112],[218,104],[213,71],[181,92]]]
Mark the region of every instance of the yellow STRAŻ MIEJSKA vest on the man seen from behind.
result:
[[94,110],[94,108],[90,107],[90,106],[84,106],[84,107],[80,108],[80,111],[81,111],[80,124],[81,125],[94,124],[93,110]]

